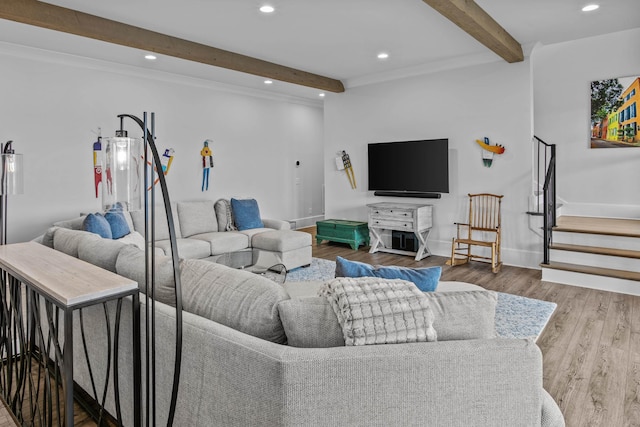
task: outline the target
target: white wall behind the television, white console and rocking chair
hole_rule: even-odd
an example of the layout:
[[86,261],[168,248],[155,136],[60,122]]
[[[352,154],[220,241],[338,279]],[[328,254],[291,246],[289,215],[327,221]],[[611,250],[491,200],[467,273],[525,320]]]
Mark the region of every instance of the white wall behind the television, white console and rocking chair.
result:
[[[468,193],[504,194],[503,258],[535,266],[540,239],[529,229],[532,105],[530,63],[495,62],[348,89],[325,100],[327,218],[366,220],[367,203],[434,205],[430,249],[448,256],[455,221],[466,216]],[[475,139],[506,147],[491,168],[483,166]],[[450,193],[441,199],[375,197],[367,191],[367,144],[413,139],[449,139]],[[352,190],[333,158],[346,150],[358,188]],[[390,165],[401,167],[401,165]]]

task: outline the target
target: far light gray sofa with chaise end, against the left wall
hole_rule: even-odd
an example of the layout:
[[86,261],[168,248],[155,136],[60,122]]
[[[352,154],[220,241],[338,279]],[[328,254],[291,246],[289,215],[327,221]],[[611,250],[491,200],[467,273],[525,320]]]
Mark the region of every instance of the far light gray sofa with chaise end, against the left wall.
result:
[[[245,201],[253,201],[257,209],[253,199],[238,202]],[[122,241],[143,247],[144,211],[122,211],[121,214],[126,227],[125,232],[117,237],[124,235]],[[284,264],[287,270],[311,263],[311,236],[308,233],[291,230],[287,221],[267,218],[259,218],[252,228],[238,229],[231,202],[227,199],[219,199],[215,203],[213,200],[177,202],[172,204],[172,216],[180,258],[213,261],[225,253],[257,249],[267,254],[265,257],[271,260],[272,265]],[[86,215],[81,215],[53,225],[82,230],[83,224],[86,228],[85,219]],[[156,247],[162,254],[170,255],[169,227],[164,208],[156,209],[155,224]]]

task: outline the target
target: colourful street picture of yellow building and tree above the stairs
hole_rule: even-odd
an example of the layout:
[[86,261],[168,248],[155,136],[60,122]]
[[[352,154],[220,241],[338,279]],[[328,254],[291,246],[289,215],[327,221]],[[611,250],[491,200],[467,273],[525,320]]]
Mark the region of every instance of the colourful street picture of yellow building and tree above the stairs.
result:
[[640,76],[591,82],[591,148],[640,147]]

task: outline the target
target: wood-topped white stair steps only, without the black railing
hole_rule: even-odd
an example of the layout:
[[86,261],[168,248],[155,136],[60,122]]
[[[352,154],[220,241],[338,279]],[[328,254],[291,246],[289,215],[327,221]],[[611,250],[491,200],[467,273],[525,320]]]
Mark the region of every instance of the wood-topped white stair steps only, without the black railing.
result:
[[560,216],[542,280],[640,295],[640,220]]

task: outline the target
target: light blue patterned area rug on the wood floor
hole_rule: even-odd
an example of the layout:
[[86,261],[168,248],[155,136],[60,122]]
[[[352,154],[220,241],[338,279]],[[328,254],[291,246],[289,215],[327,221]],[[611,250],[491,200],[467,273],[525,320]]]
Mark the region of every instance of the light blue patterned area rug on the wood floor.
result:
[[[336,263],[313,258],[311,266],[287,274],[288,282],[327,280],[335,276]],[[556,304],[498,292],[496,333],[503,338],[537,338],[551,318]]]

